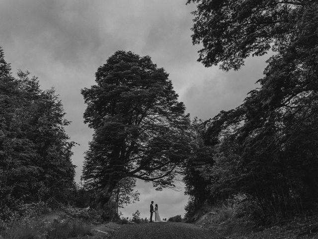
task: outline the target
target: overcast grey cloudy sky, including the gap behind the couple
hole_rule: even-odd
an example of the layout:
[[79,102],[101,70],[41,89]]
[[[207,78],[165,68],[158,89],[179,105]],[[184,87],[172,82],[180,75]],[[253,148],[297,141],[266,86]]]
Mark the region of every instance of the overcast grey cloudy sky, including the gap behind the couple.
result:
[[[83,152],[92,131],[83,123],[85,105],[80,89],[94,84],[98,66],[116,50],[151,56],[172,80],[191,118],[209,119],[237,107],[262,77],[268,56],[247,59],[239,72],[204,68],[196,62],[191,42],[191,11],[186,0],[0,0],[0,46],[12,71],[28,70],[42,89],[55,87],[63,102],[67,132],[80,145],[73,162],[79,181]],[[184,215],[187,197],[180,191],[157,192],[138,181],[140,202],[121,210],[131,217],[137,209],[149,218],[151,200],[162,218]]]

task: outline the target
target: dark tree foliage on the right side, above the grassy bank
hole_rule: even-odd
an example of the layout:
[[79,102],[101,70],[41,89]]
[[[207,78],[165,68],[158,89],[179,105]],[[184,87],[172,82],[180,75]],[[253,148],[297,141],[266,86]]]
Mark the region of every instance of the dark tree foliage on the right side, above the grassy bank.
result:
[[202,165],[195,171],[213,197],[243,193],[268,215],[315,209],[318,3],[196,2],[200,3],[194,39],[203,40],[201,60],[206,65],[222,62],[225,70],[239,69],[249,53],[264,54],[270,45],[277,54],[267,61],[264,77],[257,81],[260,87],[249,92],[239,107],[201,124],[213,163],[201,157]]

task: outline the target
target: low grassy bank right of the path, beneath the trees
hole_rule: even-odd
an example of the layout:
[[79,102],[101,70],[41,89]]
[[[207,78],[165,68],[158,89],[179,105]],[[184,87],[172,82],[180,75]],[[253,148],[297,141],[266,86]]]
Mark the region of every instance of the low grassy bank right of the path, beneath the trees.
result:
[[[237,210],[238,211],[238,210]],[[298,216],[262,226],[252,215],[229,207],[214,207],[196,224],[226,239],[318,239],[318,215]]]

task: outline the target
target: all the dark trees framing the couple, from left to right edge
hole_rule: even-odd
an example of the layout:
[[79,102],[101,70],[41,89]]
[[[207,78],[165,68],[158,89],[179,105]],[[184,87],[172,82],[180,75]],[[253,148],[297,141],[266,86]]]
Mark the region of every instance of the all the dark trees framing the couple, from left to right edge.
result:
[[[13,78],[0,49],[1,206],[54,197],[113,210],[138,200],[136,179],[157,190],[182,175],[188,215],[245,195],[264,215],[315,210],[318,200],[318,3],[314,0],[188,0],[192,40],[206,67],[239,70],[267,60],[241,105],[190,120],[168,73],[149,56],[116,51],[81,90],[93,129],[77,189],[61,101],[36,78]],[[72,194],[73,192],[73,194]],[[74,192],[81,199],[74,199]],[[73,199],[72,198],[73,195]]]

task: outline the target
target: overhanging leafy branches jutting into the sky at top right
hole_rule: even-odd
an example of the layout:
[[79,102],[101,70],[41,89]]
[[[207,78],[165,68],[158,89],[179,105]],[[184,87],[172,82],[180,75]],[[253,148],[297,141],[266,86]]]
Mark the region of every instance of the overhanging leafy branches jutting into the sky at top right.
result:
[[[297,29],[301,12],[315,0],[187,0],[193,12],[193,44],[202,44],[198,61],[223,70],[238,70],[250,54],[277,51]],[[273,44],[272,44],[273,43]]]

